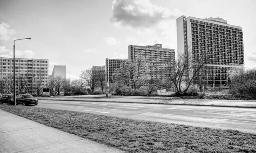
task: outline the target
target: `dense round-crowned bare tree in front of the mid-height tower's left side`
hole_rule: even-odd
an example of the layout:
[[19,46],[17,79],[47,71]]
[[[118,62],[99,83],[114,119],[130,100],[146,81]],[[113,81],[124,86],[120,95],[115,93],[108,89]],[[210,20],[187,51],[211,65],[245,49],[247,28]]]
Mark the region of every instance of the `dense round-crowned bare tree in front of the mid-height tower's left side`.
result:
[[124,85],[131,85],[136,89],[137,85],[146,82],[149,78],[147,75],[148,66],[144,57],[136,57],[135,59],[128,59],[122,62],[120,67],[115,70],[113,78],[116,82]]

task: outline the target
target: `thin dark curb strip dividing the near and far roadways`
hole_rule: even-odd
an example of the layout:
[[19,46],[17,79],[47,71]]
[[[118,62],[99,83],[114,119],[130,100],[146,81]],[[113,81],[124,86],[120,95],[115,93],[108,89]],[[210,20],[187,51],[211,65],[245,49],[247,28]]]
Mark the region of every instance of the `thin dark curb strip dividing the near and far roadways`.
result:
[[[38,100],[62,100],[62,101],[75,101],[75,102],[106,102],[106,101],[92,101],[92,100],[69,100],[69,99],[38,99]],[[124,102],[123,102],[124,103]],[[239,105],[204,105],[204,104],[169,104],[169,103],[157,103],[157,102],[125,102],[125,103],[138,103],[138,104],[162,104],[162,105],[189,105],[189,106],[210,106],[210,107],[230,107],[230,108],[256,108],[256,106],[239,106]]]

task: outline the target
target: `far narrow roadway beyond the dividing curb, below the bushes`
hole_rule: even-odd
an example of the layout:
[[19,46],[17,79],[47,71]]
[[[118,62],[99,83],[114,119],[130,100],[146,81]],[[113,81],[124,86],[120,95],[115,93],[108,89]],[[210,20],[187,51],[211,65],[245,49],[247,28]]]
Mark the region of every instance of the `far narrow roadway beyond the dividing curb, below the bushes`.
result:
[[39,100],[66,99],[79,101],[102,101],[102,102],[146,102],[146,103],[169,103],[169,104],[191,104],[191,105],[230,105],[230,106],[253,106],[256,100],[216,100],[216,99],[181,99],[176,97],[144,97],[144,96],[108,96],[105,95],[83,95],[83,96],[55,96],[37,97]]

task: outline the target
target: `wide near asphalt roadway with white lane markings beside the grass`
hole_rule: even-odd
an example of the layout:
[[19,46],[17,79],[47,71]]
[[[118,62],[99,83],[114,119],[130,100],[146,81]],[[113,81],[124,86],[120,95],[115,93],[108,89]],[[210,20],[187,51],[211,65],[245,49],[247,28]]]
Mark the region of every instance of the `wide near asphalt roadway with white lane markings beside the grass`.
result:
[[[32,106],[34,107],[34,106]],[[212,106],[39,100],[35,107],[256,133],[256,109]]]

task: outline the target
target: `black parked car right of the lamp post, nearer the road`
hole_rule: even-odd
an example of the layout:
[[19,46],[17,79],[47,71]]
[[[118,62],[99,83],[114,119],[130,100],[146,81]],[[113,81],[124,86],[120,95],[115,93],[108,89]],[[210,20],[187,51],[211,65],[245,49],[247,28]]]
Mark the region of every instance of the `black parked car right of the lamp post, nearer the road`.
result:
[[31,94],[20,94],[16,96],[16,104],[29,105],[34,104],[38,105],[38,99],[33,97]]

